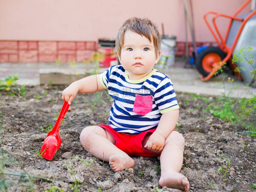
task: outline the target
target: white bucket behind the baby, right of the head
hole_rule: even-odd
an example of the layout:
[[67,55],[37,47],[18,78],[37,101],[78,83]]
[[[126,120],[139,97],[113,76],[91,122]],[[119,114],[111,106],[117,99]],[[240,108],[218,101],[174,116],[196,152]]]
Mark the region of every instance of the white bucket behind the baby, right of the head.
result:
[[174,65],[176,51],[176,36],[161,37],[161,57],[165,57],[167,66]]

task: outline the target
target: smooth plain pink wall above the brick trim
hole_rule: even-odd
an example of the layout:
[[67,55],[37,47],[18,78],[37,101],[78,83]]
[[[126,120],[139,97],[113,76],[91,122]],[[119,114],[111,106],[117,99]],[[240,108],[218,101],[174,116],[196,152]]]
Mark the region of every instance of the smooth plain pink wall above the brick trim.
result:
[[[217,11],[232,15],[246,0],[193,0],[196,41],[211,42],[213,36],[203,15]],[[249,10],[250,5],[246,10]],[[97,41],[115,38],[121,24],[132,16],[148,17],[165,34],[185,40],[182,0],[1,0],[0,40]],[[224,34],[227,21],[219,19]],[[189,40],[191,38],[189,37]]]

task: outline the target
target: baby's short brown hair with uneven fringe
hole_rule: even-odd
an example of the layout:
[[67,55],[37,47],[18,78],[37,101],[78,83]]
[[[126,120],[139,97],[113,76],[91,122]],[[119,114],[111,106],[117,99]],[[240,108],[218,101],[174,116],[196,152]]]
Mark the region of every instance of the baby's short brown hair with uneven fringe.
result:
[[150,42],[153,41],[155,48],[156,58],[161,48],[161,37],[157,26],[147,18],[129,18],[123,23],[121,28],[118,30],[116,39],[115,39],[115,49],[118,55],[121,55],[121,49],[124,45],[124,34],[126,31],[132,31],[145,36]]

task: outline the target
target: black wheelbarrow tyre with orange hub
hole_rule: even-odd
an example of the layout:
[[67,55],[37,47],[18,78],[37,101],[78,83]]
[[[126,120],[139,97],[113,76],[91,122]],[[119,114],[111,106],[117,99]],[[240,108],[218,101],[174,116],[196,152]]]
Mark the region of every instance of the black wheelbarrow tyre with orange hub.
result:
[[214,63],[221,62],[226,55],[227,54],[218,47],[207,47],[198,53],[195,63],[196,69],[206,77],[213,71]]

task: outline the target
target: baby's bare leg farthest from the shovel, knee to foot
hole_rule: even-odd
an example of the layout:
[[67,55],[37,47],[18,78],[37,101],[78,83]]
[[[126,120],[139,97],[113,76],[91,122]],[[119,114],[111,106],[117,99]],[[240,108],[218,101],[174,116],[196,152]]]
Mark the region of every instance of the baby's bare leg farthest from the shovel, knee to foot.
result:
[[[142,141],[142,146],[146,144],[149,136],[147,134]],[[148,150],[148,149],[146,149]],[[154,150],[148,150],[156,152]],[[189,182],[188,179],[179,173],[183,162],[184,151],[184,138],[177,132],[172,131],[165,140],[165,145],[160,155],[161,164],[161,177],[159,180],[160,186],[166,186],[168,188],[177,188],[180,190],[188,191]]]

